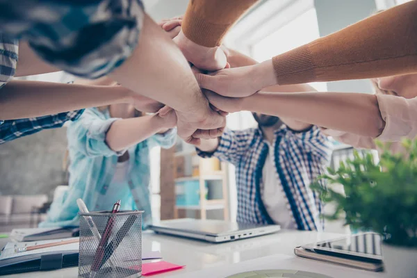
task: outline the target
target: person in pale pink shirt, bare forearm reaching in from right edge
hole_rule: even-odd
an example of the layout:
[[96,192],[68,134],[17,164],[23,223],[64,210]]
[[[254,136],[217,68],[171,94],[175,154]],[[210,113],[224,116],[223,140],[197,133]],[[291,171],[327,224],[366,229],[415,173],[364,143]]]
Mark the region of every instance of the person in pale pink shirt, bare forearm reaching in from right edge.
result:
[[[256,65],[252,58],[223,49],[232,69]],[[208,90],[204,93],[221,111],[252,111],[315,124],[327,129],[327,135],[354,147],[375,148],[374,138],[388,142],[415,138],[417,74],[378,80],[376,95],[316,92],[306,84],[273,85],[249,97],[224,97]]]

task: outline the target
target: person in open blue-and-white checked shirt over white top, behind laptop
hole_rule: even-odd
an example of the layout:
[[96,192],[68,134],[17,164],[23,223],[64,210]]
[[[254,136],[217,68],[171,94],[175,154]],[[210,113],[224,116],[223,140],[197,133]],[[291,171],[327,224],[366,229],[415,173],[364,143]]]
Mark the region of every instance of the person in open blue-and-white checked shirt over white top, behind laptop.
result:
[[[233,51],[231,67],[256,63]],[[309,85],[275,85],[269,92],[314,90]],[[211,104],[224,112],[240,111],[243,98],[206,92]],[[250,110],[247,101],[245,110]],[[261,112],[261,111],[258,111]],[[258,127],[226,129],[221,138],[201,140],[197,154],[215,156],[236,167],[238,222],[280,224],[284,229],[324,229],[322,203],[310,184],[325,173],[331,143],[318,126],[292,119],[253,113]],[[319,181],[323,182],[323,181]]]

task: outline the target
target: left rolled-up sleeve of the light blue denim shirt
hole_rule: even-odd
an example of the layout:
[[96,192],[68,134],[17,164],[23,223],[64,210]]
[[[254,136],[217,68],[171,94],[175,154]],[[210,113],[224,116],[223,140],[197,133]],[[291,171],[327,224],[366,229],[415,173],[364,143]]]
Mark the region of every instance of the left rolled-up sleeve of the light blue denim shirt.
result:
[[[95,109],[95,108],[92,108]],[[68,125],[68,145],[85,156],[121,156],[124,152],[115,152],[106,143],[106,133],[113,122],[119,118],[104,119],[97,111],[86,109],[78,121]]]

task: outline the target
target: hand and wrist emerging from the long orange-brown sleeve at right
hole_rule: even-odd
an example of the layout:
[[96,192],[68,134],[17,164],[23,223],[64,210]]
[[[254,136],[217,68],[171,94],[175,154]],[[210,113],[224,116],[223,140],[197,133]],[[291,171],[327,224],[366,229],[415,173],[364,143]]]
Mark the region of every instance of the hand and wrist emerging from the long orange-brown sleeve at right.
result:
[[201,88],[225,97],[248,97],[277,83],[270,60],[246,67],[219,70],[211,74],[197,73],[195,78]]

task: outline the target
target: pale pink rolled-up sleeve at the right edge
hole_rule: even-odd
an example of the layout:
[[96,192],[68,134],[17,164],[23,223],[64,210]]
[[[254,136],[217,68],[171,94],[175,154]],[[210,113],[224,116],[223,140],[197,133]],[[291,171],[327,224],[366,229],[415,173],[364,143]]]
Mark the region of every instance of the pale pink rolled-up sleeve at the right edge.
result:
[[385,127],[377,139],[398,142],[417,136],[417,97],[405,99],[393,95],[377,95],[379,111]]

